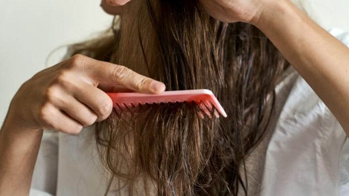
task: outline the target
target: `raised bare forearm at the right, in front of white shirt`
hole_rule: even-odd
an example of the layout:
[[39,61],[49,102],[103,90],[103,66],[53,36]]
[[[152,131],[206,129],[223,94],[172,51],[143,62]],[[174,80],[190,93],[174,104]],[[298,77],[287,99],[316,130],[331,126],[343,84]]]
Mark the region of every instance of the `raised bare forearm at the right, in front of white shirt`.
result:
[[254,25],[282,52],[349,136],[349,49],[288,0],[267,3]]

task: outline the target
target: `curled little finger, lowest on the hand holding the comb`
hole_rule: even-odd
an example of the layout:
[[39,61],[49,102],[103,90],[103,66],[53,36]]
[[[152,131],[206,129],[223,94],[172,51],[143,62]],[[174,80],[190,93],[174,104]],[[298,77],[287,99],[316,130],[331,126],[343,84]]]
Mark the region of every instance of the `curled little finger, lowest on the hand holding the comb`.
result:
[[75,121],[63,111],[52,104],[47,104],[41,111],[41,121],[48,129],[54,129],[63,133],[76,135],[83,128],[82,124]]

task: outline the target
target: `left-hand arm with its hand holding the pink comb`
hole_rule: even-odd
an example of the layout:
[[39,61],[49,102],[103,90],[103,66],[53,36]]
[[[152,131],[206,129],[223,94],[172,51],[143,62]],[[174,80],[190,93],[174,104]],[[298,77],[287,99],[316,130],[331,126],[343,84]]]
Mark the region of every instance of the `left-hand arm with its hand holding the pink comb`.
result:
[[159,93],[161,82],[108,62],[76,55],[25,82],[11,101],[0,130],[0,196],[29,195],[43,129],[79,134],[108,118],[112,90]]

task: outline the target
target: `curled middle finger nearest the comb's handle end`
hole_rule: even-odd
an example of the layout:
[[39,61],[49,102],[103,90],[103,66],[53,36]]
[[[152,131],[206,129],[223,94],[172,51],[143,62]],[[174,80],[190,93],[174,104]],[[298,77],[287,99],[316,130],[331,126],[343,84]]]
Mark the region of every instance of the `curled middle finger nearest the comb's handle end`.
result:
[[98,116],[96,121],[103,121],[111,114],[113,103],[103,90],[93,85],[82,83],[71,93],[75,99],[94,111]]

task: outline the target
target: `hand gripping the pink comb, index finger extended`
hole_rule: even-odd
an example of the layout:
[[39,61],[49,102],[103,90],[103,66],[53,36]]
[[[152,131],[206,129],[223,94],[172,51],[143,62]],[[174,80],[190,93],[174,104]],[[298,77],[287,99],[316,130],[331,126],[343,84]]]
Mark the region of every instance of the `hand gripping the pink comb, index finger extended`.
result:
[[78,134],[111,114],[111,98],[97,88],[99,84],[144,93],[165,90],[163,83],[124,66],[75,55],[25,82],[11,102],[6,123]]

